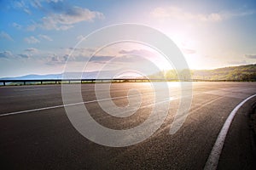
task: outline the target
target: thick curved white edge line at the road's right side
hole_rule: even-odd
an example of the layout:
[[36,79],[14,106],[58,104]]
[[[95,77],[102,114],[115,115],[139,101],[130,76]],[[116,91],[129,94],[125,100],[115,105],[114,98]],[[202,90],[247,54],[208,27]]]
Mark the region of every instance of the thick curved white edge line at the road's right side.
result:
[[218,133],[218,138],[216,139],[216,142],[212,147],[211,154],[208,157],[207,163],[204,167],[205,170],[217,169],[218,159],[219,159],[219,156],[223,149],[224,141],[225,141],[226,135],[229,131],[230,124],[233,121],[234,116],[236,115],[236,112],[240,109],[241,105],[244,105],[247,102],[247,100],[252,99],[255,96],[256,96],[256,94],[253,94],[252,96],[248,97],[247,99],[244,99],[239,105],[236,105],[236,107],[233,111],[231,111],[230,116],[227,118],[226,122],[224,122],[224,126],[222,127],[221,131]]

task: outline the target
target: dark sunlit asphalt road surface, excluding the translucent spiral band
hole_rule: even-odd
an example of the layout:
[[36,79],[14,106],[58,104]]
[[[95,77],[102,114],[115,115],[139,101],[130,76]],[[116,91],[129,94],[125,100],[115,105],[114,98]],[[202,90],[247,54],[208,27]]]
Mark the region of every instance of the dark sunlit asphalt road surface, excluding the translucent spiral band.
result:
[[[177,82],[169,85],[170,108],[165,122],[150,138],[125,147],[108,147],[84,138],[67,117],[60,85],[1,87],[0,168],[203,169],[226,118],[243,99],[256,94],[256,83],[193,83],[189,116],[174,134],[169,130],[180,102],[179,88]],[[82,85],[84,105],[104,127],[117,130],[136,127],[145,122],[153,110],[154,91],[147,82],[113,83],[113,103],[127,106],[125,96],[130,88],[140,91],[142,98],[141,108],[131,116],[114,117],[102,111],[96,101],[94,84]],[[73,104],[77,99],[68,102]],[[218,169],[255,169],[248,120],[255,102],[256,98],[250,99],[237,112],[225,139]]]

